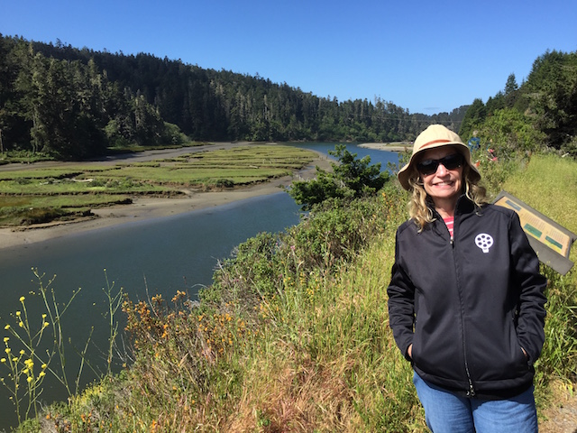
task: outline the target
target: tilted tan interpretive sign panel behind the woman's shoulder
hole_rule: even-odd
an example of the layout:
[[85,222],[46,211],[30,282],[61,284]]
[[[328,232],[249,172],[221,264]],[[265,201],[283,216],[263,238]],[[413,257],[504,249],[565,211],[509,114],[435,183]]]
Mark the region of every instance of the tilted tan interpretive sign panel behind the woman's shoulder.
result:
[[542,263],[562,275],[569,272],[573,265],[569,260],[569,253],[577,235],[505,191],[499,192],[493,203],[517,212],[529,244]]

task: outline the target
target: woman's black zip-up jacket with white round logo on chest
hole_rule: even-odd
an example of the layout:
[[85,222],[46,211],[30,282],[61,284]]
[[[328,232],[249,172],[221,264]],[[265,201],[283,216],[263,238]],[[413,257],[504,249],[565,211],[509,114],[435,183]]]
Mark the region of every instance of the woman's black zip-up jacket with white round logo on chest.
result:
[[[527,390],[545,340],[545,285],[517,214],[464,196],[453,240],[438,215],[418,232],[398,227],[389,324],[415,371],[467,396]],[[527,356],[523,350],[527,352]]]

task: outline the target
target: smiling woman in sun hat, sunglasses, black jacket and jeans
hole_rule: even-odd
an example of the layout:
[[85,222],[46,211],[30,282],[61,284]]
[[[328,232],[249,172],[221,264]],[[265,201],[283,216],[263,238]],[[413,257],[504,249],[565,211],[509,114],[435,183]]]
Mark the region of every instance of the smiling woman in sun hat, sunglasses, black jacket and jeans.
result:
[[389,323],[427,426],[537,431],[546,280],[517,214],[486,203],[469,149],[440,124],[417,137],[398,180],[411,218],[397,231]]

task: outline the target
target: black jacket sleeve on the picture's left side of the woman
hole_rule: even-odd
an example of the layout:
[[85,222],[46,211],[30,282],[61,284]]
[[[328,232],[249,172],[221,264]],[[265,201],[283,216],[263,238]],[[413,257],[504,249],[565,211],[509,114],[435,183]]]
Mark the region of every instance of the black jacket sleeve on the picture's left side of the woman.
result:
[[389,295],[389,326],[401,353],[410,361],[408,346],[413,342],[413,324],[415,321],[415,287],[407,272],[400,265],[398,231],[395,240],[395,263],[387,294]]

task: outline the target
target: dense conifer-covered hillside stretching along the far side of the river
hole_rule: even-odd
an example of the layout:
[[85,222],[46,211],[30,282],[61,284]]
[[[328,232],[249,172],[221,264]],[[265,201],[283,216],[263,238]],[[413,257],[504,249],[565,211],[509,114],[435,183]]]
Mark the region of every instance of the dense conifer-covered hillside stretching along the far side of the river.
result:
[[339,102],[258,74],[0,37],[5,150],[82,158],[114,145],[179,141],[180,131],[211,141],[395,142],[430,123],[457,129],[465,111],[409,114],[378,97]]

